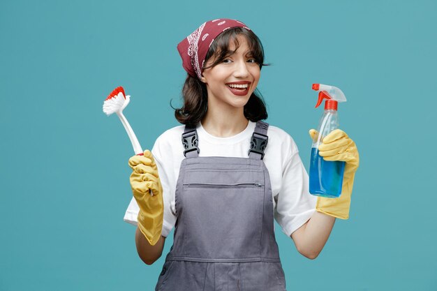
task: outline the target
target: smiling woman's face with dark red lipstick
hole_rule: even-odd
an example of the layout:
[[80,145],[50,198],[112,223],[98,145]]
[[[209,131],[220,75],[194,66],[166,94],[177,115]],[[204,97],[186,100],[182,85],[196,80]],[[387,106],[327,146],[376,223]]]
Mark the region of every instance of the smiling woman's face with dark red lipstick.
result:
[[[255,62],[246,38],[239,37],[237,51],[226,57],[221,63],[207,68],[202,73],[202,82],[207,85],[208,107],[243,108],[260,80],[260,66]],[[235,43],[230,41],[229,50],[235,50]],[[207,61],[210,66],[214,57]]]

